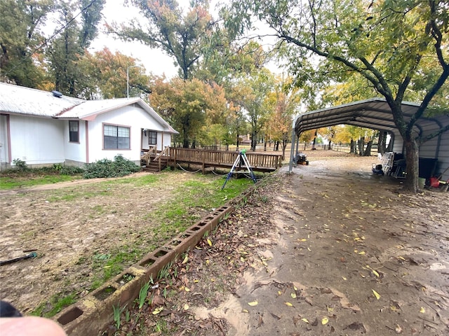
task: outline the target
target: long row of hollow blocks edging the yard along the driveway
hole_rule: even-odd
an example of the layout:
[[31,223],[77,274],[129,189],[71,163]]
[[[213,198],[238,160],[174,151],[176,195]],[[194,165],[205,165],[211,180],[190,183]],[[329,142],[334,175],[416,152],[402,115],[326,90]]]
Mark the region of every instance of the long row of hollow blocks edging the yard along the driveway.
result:
[[205,235],[210,234],[221,221],[234,212],[234,207],[243,207],[248,197],[255,192],[257,184],[203,217],[185,232],[171,239],[168,244],[148,253],[78,302],[66,307],[53,316],[53,320],[62,325],[69,336],[99,335],[114,321],[114,307],[123,308],[132,304],[139,296],[140,288],[149,279],[156,279],[163,267],[180,258],[182,253],[190,248],[194,248]]

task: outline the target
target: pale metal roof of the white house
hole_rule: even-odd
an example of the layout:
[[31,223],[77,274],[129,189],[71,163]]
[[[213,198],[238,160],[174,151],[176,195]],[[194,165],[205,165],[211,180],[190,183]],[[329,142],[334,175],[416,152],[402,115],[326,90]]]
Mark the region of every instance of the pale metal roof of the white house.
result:
[[94,120],[99,114],[128,105],[138,105],[164,128],[164,132],[178,133],[140,98],[85,100],[64,95],[56,97],[57,95],[29,87],[0,83],[0,112],[58,119]]

